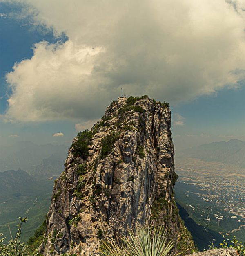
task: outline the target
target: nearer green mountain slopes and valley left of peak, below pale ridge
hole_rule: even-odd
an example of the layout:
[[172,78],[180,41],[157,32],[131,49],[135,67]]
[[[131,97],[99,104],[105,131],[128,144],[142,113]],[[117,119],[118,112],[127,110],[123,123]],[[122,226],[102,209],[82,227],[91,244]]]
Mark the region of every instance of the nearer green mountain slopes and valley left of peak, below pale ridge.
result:
[[15,234],[21,216],[29,219],[22,238],[33,235],[45,219],[52,188],[53,180],[38,180],[21,169],[0,172],[0,233],[9,240],[9,228]]

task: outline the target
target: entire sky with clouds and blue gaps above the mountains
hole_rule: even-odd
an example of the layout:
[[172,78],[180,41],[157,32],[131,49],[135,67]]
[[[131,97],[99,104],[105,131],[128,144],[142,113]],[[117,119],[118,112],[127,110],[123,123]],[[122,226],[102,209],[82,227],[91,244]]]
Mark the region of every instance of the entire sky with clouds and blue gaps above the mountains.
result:
[[125,94],[176,150],[245,139],[244,0],[0,0],[0,144],[69,143]]

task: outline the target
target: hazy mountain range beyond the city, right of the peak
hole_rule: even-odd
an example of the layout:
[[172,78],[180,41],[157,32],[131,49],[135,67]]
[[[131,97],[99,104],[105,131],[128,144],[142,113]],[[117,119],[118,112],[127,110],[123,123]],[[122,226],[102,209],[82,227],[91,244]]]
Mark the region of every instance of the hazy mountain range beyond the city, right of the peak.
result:
[[220,141],[203,144],[183,150],[178,157],[191,157],[204,161],[217,161],[245,167],[245,142],[231,139],[228,142]]

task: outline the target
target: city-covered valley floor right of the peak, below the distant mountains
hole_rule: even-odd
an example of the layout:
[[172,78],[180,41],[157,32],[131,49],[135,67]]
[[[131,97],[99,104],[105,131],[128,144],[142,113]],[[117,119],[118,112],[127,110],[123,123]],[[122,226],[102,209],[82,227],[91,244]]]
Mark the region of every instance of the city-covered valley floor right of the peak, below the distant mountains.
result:
[[[194,158],[176,158],[175,162],[176,201],[209,238],[199,242],[199,249],[211,242],[218,245],[221,233],[245,241],[245,168]],[[193,236],[198,240],[202,234]]]

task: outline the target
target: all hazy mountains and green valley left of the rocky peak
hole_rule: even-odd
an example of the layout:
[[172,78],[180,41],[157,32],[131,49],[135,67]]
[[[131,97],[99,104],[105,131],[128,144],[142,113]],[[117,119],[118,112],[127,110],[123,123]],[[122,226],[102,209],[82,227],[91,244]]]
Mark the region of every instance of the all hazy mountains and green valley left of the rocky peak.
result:
[[22,230],[25,241],[45,219],[53,178],[64,170],[67,149],[31,142],[0,146],[0,233],[7,240],[9,228],[15,234],[19,216],[29,219]]

